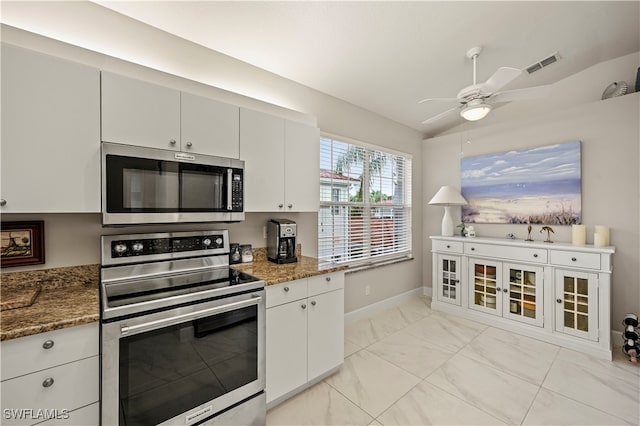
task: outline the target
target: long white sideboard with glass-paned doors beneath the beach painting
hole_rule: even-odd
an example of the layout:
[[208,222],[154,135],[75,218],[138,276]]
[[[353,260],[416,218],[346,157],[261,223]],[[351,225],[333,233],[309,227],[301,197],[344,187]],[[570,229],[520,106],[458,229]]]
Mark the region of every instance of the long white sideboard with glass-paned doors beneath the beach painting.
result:
[[614,247],[432,236],[434,310],[611,359]]

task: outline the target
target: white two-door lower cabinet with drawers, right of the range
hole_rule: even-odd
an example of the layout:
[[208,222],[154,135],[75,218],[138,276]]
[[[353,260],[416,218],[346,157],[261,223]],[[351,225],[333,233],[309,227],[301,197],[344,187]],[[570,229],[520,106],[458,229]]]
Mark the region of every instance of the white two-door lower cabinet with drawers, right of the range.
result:
[[271,406],[344,361],[344,273],[267,286],[266,393]]

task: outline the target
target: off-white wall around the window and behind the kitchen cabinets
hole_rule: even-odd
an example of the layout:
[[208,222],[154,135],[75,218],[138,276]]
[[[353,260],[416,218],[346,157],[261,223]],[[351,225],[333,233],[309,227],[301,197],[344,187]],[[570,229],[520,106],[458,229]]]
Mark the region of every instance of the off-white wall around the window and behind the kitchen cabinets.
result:
[[[417,257],[411,262],[349,274],[345,311],[422,286],[422,135],[416,130],[93,3],[10,2],[3,4],[2,13],[3,42],[294,120],[317,119],[324,132],[412,155],[416,164],[412,179],[413,251]],[[260,246],[263,223],[275,215],[281,216],[248,214],[243,224],[229,226],[232,239]],[[5,215],[3,220],[15,220],[14,216]],[[50,260],[45,268],[99,262],[95,247],[98,236],[105,232],[99,226],[99,215],[40,216],[48,222],[45,237]],[[295,216],[291,219],[302,223],[303,252],[313,255],[317,251],[317,216]],[[73,234],[78,237],[72,238]],[[77,250],[71,248],[70,241]],[[371,294],[365,297],[367,284]]]

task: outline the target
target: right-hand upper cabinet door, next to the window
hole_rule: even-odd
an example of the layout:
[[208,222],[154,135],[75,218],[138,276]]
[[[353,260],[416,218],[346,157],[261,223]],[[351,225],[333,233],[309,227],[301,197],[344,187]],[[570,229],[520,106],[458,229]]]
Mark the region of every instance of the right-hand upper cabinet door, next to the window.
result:
[[285,210],[317,212],[320,209],[320,131],[287,120],[284,152]]

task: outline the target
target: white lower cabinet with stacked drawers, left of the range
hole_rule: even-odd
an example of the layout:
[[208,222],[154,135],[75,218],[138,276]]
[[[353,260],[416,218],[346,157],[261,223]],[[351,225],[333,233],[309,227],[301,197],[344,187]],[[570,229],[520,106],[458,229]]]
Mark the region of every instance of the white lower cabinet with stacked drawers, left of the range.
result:
[[5,425],[99,423],[98,323],[2,342]]

